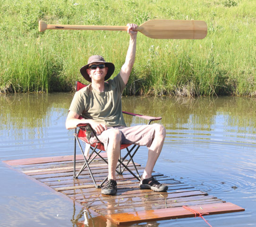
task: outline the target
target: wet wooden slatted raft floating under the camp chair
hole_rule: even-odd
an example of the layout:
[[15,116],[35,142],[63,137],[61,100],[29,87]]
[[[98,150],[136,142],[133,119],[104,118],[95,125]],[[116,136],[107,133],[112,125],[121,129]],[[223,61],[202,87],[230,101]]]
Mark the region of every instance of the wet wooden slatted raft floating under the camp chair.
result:
[[[103,154],[106,156],[106,154]],[[79,178],[73,178],[73,155],[28,158],[4,161],[14,169],[50,186],[67,195],[70,199],[96,211],[116,224],[131,224],[163,219],[195,217],[195,213],[183,206],[200,213],[221,214],[244,211],[243,208],[226,203],[221,199],[179,182],[161,173],[153,176],[168,185],[167,192],[140,190],[139,182],[128,171],[117,175],[117,195],[107,196],[97,189],[87,170]],[[82,166],[83,156],[77,155],[77,170]],[[136,164],[139,172],[143,172]],[[100,182],[107,176],[107,165],[95,158],[91,163],[95,180]],[[132,168],[131,168],[132,169]]]

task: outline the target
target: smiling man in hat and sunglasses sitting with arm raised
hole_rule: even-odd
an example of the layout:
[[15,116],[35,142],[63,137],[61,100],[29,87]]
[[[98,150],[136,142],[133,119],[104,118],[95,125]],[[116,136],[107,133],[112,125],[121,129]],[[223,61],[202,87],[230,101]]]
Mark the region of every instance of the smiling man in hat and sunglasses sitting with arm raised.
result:
[[[102,56],[91,56],[88,64],[80,69],[90,85],[76,92],[69,108],[66,128],[73,129],[79,123],[89,123],[104,144],[108,156],[108,182],[102,188],[102,194],[115,195],[117,166],[120,144],[138,144],[148,147],[148,161],[141,176],[140,188],[154,191],[166,191],[167,186],[152,177],[154,164],[162,150],[165,128],[160,124],[126,127],[122,109],[121,95],[128,82],[135,61],[137,25],[128,24],[129,47],[124,65],[113,80],[108,80],[115,66],[106,62]],[[78,119],[82,115],[83,119]],[[90,142],[95,142],[92,136]]]

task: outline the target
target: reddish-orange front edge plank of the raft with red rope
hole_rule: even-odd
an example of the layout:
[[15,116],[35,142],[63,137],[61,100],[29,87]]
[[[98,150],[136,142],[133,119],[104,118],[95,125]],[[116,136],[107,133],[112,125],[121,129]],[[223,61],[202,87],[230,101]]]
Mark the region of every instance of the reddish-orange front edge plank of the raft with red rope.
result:
[[[213,203],[199,206],[191,206],[190,208],[200,213],[208,213],[209,215],[244,211],[243,208],[232,203]],[[106,215],[105,217],[107,219],[111,219],[112,222],[120,225],[164,219],[189,218],[195,217],[195,214],[184,209],[183,207],[176,207],[149,211],[118,213]]]

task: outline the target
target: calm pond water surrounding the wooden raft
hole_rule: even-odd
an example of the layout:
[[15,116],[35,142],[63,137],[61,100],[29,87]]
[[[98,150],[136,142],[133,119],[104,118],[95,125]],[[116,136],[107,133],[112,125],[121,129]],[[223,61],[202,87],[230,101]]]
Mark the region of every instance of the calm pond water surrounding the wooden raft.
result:
[[[73,130],[65,129],[72,93],[0,96],[0,161],[73,154]],[[207,216],[213,227],[256,226],[256,99],[246,97],[123,97],[123,110],[162,116],[162,154],[154,170],[244,212]],[[141,124],[125,118],[128,125]],[[145,164],[141,147],[136,162]],[[115,226],[66,196],[0,162],[1,226]],[[208,226],[188,218],[134,226]]]

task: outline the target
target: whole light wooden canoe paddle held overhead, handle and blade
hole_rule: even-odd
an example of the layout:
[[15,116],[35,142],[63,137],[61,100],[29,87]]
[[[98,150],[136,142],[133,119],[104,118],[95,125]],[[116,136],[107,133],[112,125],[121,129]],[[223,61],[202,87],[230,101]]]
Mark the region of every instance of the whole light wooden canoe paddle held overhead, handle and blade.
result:
[[[46,24],[39,21],[39,32],[46,29],[61,30],[106,30],[127,31],[127,26],[108,25],[62,25]],[[207,34],[207,25],[198,20],[149,20],[137,27],[137,31],[153,39],[204,39]]]

